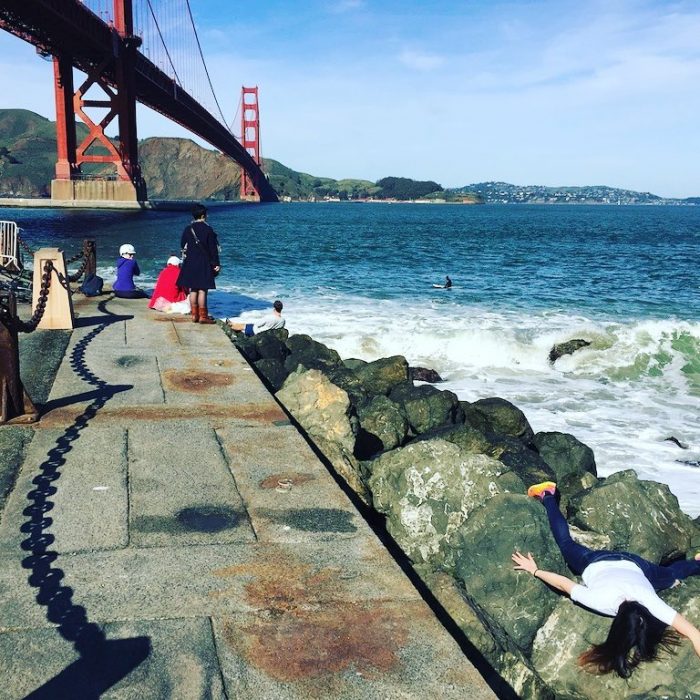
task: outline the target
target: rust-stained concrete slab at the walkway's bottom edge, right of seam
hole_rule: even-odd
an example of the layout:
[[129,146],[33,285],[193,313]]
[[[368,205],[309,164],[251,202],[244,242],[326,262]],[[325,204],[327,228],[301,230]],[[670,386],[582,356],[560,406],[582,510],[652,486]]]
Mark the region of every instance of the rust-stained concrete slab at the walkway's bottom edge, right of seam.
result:
[[332,603],[214,619],[229,697],[492,698],[417,602]]

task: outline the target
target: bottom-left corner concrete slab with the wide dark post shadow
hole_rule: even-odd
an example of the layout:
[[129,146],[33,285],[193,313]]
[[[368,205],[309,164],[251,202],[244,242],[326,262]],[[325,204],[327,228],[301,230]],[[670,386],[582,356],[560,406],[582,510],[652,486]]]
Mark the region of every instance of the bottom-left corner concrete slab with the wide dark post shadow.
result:
[[100,629],[106,644],[94,662],[81,659],[56,630],[0,634],[0,658],[7,659],[0,698],[16,700],[31,692],[57,700],[226,697],[209,619],[145,620]]

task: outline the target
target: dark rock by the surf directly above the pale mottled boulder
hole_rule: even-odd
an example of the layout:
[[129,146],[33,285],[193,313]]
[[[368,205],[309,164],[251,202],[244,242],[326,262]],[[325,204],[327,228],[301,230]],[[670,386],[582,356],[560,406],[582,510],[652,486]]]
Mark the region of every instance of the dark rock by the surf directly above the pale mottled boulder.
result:
[[451,391],[406,380],[392,389],[389,398],[403,407],[411,430],[420,434],[443,425],[462,423],[464,413]]

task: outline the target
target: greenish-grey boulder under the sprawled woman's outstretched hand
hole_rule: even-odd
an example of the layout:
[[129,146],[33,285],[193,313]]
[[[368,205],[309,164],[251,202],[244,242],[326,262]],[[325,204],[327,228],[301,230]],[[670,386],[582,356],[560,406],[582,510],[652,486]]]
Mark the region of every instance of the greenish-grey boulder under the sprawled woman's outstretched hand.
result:
[[532,575],[514,571],[511,554],[533,552],[540,568],[566,574],[541,503],[519,494],[494,495],[462,522],[452,544],[455,576],[499,645],[527,653],[557,596]]

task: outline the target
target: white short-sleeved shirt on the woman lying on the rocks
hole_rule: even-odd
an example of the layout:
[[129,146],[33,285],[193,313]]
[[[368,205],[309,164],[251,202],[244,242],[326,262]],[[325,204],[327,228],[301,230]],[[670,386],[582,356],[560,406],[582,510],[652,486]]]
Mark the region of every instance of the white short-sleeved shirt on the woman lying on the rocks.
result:
[[642,570],[632,561],[597,561],[581,574],[585,585],[576,584],[571,600],[603,615],[617,615],[626,600],[641,603],[654,617],[670,625],[676,611],[664,603]]

